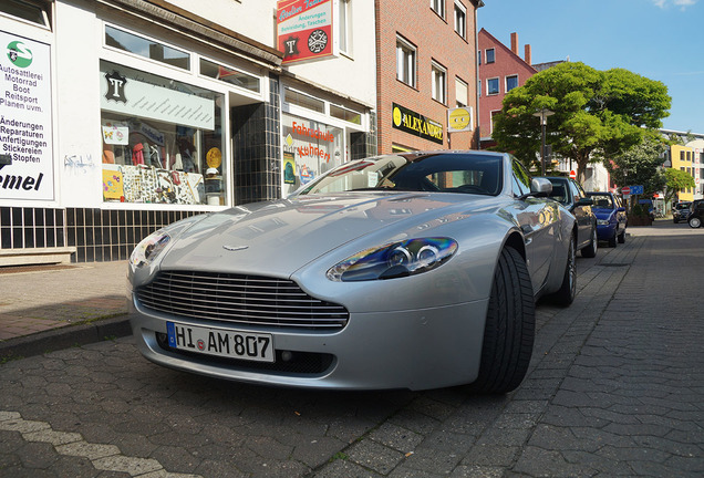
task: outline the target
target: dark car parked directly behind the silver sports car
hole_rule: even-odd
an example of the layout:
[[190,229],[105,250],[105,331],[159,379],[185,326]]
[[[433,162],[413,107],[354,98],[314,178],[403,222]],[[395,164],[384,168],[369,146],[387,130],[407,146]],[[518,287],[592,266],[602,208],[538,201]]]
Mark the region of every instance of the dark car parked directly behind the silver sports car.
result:
[[552,183],[550,198],[565,206],[577,219],[577,250],[586,258],[597,256],[599,239],[597,238],[597,216],[591,210],[593,200],[587,197],[584,189],[574,179],[550,176]]

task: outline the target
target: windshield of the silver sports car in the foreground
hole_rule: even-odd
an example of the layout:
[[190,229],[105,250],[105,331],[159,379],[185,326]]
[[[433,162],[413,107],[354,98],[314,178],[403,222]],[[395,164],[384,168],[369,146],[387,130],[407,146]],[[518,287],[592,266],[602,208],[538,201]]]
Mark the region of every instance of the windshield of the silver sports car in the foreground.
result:
[[298,195],[348,191],[434,191],[496,196],[501,156],[462,153],[398,154],[345,163]]

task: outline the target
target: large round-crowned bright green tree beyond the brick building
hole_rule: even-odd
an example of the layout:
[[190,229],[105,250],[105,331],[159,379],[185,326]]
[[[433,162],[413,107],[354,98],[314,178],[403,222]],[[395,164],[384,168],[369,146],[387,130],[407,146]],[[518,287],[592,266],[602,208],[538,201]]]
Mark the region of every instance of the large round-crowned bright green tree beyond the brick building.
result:
[[628,70],[598,71],[581,62],[543,70],[504,97],[491,137],[497,149],[526,164],[539,162],[542,108],[555,112],[547,125],[552,152],[577,163],[580,181],[590,162],[603,160],[642,142],[669,115],[667,87]]

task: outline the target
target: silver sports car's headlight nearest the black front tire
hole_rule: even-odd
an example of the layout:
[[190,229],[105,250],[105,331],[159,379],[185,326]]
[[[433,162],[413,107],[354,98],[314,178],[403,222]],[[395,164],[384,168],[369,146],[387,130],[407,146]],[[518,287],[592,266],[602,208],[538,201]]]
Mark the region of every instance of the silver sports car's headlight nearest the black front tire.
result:
[[328,270],[335,282],[393,279],[429,271],[457,251],[449,238],[422,238],[392,242],[359,252]]

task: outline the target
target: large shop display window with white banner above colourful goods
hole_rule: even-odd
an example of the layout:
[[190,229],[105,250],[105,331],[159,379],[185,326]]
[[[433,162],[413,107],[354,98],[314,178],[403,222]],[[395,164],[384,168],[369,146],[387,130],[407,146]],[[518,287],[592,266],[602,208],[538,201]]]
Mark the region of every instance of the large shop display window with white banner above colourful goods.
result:
[[225,204],[224,95],[101,62],[103,199]]

